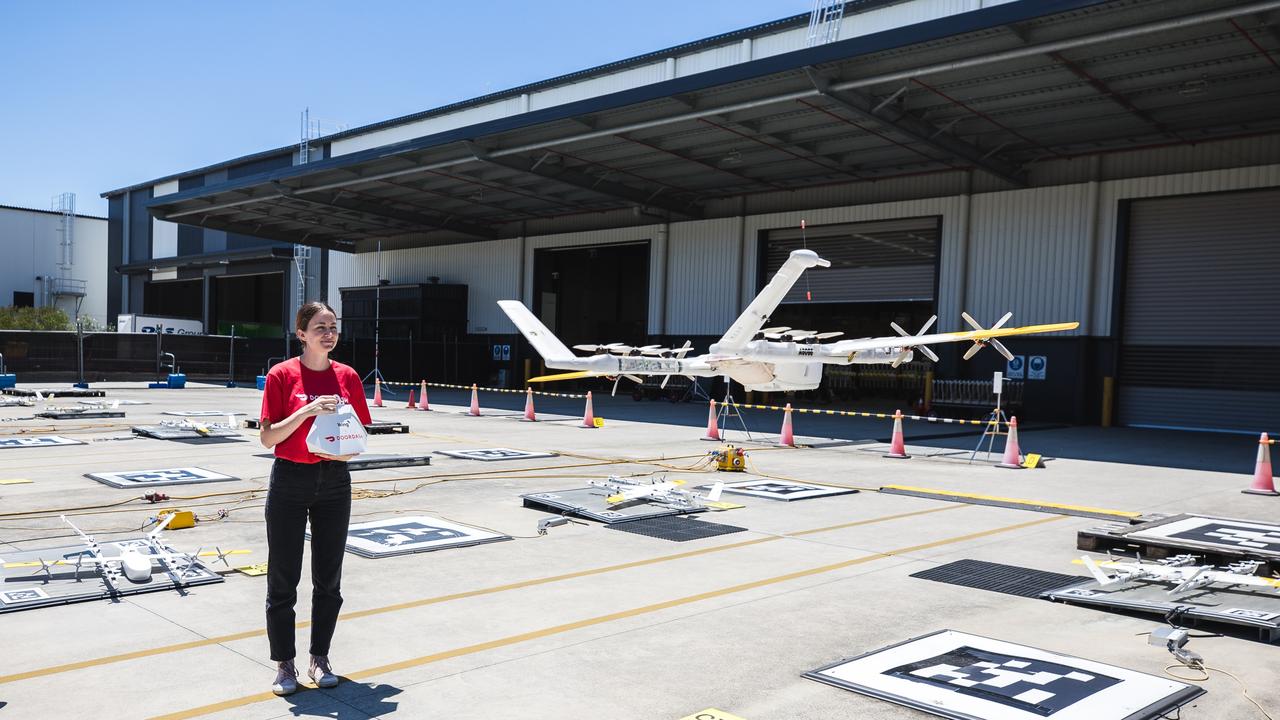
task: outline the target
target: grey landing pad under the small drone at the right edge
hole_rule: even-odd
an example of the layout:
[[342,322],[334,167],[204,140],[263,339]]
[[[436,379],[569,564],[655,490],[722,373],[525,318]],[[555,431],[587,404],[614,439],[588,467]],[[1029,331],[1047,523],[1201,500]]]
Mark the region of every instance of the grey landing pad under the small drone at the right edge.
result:
[[1133,580],[1125,585],[1102,588],[1091,579],[1047,592],[1042,597],[1102,610],[1151,612],[1161,618],[1176,609],[1181,616],[1179,625],[1189,624],[1189,619],[1225,623],[1257,630],[1262,642],[1280,641],[1280,594],[1275,591],[1212,585],[1170,597],[1170,588],[1171,583],[1151,580]]

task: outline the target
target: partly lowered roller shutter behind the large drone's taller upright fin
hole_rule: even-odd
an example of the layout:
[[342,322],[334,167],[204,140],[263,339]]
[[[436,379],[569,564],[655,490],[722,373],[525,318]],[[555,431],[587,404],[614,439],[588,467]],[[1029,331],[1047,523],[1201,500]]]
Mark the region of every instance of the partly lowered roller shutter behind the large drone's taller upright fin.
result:
[[792,250],[808,247],[831,268],[805,272],[782,302],[910,302],[933,300],[938,273],[937,217],[769,231],[765,278]]

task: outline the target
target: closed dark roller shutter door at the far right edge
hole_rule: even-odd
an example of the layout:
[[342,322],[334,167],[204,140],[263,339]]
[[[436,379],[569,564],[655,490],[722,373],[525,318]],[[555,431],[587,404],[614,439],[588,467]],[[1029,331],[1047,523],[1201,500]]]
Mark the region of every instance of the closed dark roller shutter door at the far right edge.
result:
[[1280,432],[1280,190],[1129,208],[1117,418]]

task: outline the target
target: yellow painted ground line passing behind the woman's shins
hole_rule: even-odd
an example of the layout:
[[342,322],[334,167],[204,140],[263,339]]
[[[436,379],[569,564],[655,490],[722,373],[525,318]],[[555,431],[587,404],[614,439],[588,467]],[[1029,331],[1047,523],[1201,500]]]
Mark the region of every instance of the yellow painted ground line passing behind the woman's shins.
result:
[[[893,515],[882,515],[879,518],[869,518],[867,520],[854,520],[851,523],[844,523],[844,524],[840,524],[840,525],[829,525],[827,528],[815,528],[815,529],[810,529],[810,530],[799,530],[799,532],[790,533],[790,534],[783,534],[783,536],[769,536],[769,537],[764,537],[764,538],[755,538],[755,539],[749,539],[749,541],[742,541],[742,542],[735,542],[735,543],[728,543],[728,544],[718,544],[718,546],[714,546],[714,547],[704,547],[704,548],[700,548],[700,550],[691,550],[691,551],[687,551],[687,552],[676,552],[676,553],[672,553],[672,555],[660,555],[658,557],[650,557],[650,559],[646,559],[646,560],[634,560],[631,562],[621,562],[618,565],[605,565],[605,566],[602,566],[602,568],[591,568],[589,570],[577,570],[577,571],[573,571],[573,573],[564,573],[562,575],[550,575],[550,577],[547,577],[547,578],[534,578],[534,579],[530,579],[530,580],[520,580],[520,582],[516,582],[516,583],[507,583],[507,584],[502,584],[502,585],[494,585],[494,587],[489,587],[489,588],[480,588],[480,589],[474,589],[474,591],[457,592],[457,593],[443,594],[443,596],[436,596],[436,597],[424,597],[424,598],[419,598],[419,600],[411,600],[411,601],[407,601],[407,602],[398,602],[396,605],[387,605],[387,606],[383,606],[383,607],[371,607],[369,610],[357,610],[357,611],[353,611],[353,612],[344,612],[344,614],[342,614],[339,616],[339,619],[340,620],[352,620],[352,619],[356,619],[356,618],[371,618],[374,615],[384,615],[387,612],[397,612],[397,611],[401,611],[401,610],[411,610],[413,607],[424,607],[424,606],[428,606],[428,605],[438,605],[438,603],[442,603],[442,602],[451,602],[451,601],[454,601],[454,600],[465,600],[465,598],[470,598],[470,597],[480,597],[480,596],[485,596],[485,594],[495,594],[495,593],[500,593],[500,592],[515,591],[515,589],[521,589],[521,588],[531,588],[531,587],[536,587],[536,585],[545,585],[545,584],[550,584],[550,583],[558,583],[558,582],[563,582],[563,580],[572,580],[572,579],[577,579],[577,578],[589,578],[591,575],[603,575],[603,574],[607,574],[607,573],[616,573],[616,571],[620,571],[620,570],[630,570],[632,568],[644,568],[646,565],[658,565],[658,564],[662,564],[662,562],[671,562],[673,560],[685,560],[685,559],[689,559],[689,557],[698,557],[698,556],[701,556],[701,555],[710,555],[710,553],[714,553],[714,552],[723,552],[723,551],[727,551],[727,550],[737,550],[740,547],[749,547],[749,546],[753,546],[753,544],[763,544],[763,543],[767,543],[767,542],[774,542],[774,541],[780,541],[780,539],[786,539],[787,537],[800,537],[800,536],[806,536],[806,534],[813,534],[813,533],[838,530],[838,529],[845,529],[845,528],[855,528],[855,527],[859,527],[859,525],[872,525],[872,524],[876,524],[876,523],[886,523],[886,521],[890,521],[890,520],[901,520],[904,518],[915,518],[918,515],[929,515],[932,512],[942,512],[942,511],[946,511],[946,510],[956,510],[959,507],[964,507],[964,506],[961,506],[961,505],[947,505],[947,506],[943,506],[943,507],[931,507],[928,510],[915,510],[915,511],[911,511],[911,512],[897,512],[897,514],[893,514]],[[303,620],[301,623],[297,623],[294,626],[298,628],[298,629],[302,629],[302,628],[307,628],[310,625],[311,625],[311,623],[308,620]],[[184,651],[184,650],[195,650],[195,648],[198,648],[198,647],[209,647],[209,646],[228,643],[228,642],[233,642],[233,641],[242,641],[242,639],[247,639],[247,638],[256,638],[256,637],[261,637],[261,635],[265,635],[265,634],[266,634],[265,629],[246,630],[243,633],[233,633],[233,634],[229,634],[229,635],[215,635],[215,637],[211,637],[211,638],[202,638],[202,639],[198,639],[198,641],[191,641],[191,642],[184,642],[184,643],[168,644],[168,646],[163,646],[163,647],[151,647],[151,648],[145,648],[145,650],[136,650],[133,652],[122,652],[119,655],[108,655],[108,656],[104,656],[104,657],[95,657],[92,660],[81,660],[78,662],[68,662],[68,664],[64,664],[64,665],[51,665],[49,667],[37,667],[35,670],[27,670],[24,673],[14,673],[12,675],[0,675],[0,684],[15,683],[18,680],[29,680],[32,678],[42,678],[42,676],[46,676],[46,675],[56,675],[59,673],[69,673],[72,670],[83,670],[86,667],[96,667],[99,665],[110,665],[113,662],[124,662],[127,660],[137,660],[140,657],[151,657],[151,656],[156,656],[156,655],[165,655],[165,653],[169,653],[169,652],[179,652],[179,651]]]

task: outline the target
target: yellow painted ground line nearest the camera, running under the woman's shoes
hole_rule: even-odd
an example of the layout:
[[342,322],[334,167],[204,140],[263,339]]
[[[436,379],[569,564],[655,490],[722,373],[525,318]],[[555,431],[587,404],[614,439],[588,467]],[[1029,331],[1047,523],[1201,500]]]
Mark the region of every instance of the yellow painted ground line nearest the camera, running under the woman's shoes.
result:
[[[964,536],[955,536],[955,537],[943,538],[943,539],[940,539],[940,541],[933,541],[933,542],[927,542],[927,543],[920,543],[920,544],[913,544],[913,546],[908,546],[908,547],[900,547],[900,548],[890,550],[890,551],[886,551],[886,552],[873,552],[870,555],[861,555],[859,557],[854,557],[854,559],[850,559],[850,560],[842,560],[840,562],[832,562],[829,565],[819,565],[817,568],[808,568],[805,570],[796,570],[795,573],[787,573],[787,574],[783,574],[783,575],[776,575],[773,578],[764,578],[762,580],[751,580],[749,583],[740,583],[740,584],[736,584],[736,585],[730,585],[730,587],[719,588],[719,589],[714,589],[714,591],[707,591],[707,592],[701,592],[701,593],[698,593],[698,594],[690,594],[690,596],[685,596],[685,597],[677,597],[675,600],[668,600],[668,601],[663,601],[663,602],[655,602],[655,603],[644,605],[644,606],[640,606],[640,607],[632,607],[630,610],[622,610],[620,612],[609,612],[608,615],[596,615],[595,618],[586,618],[584,620],[576,620],[573,623],[564,623],[562,625],[552,625],[550,628],[541,628],[539,630],[530,630],[527,633],[520,633],[520,634],[516,634],[516,635],[507,635],[504,638],[498,638],[498,639],[493,639],[493,641],[489,641],[489,642],[483,642],[483,643],[476,643],[476,644],[468,644],[468,646],[463,646],[463,647],[456,647],[453,650],[445,650],[445,651],[442,651],[442,652],[434,652],[431,655],[422,655],[420,657],[411,657],[408,660],[401,660],[398,662],[388,662],[387,665],[378,665],[376,667],[369,667],[369,669],[365,669],[365,670],[357,670],[355,673],[347,674],[346,676],[349,678],[349,679],[352,679],[352,680],[364,680],[366,678],[374,678],[374,676],[378,676],[378,675],[384,675],[387,673],[396,673],[398,670],[407,670],[410,667],[420,667],[422,665],[429,665],[431,662],[439,662],[442,660],[451,660],[453,657],[462,657],[462,656],[466,656],[466,655],[474,655],[474,653],[477,653],[477,652],[484,652],[486,650],[495,650],[495,648],[499,648],[499,647],[507,647],[507,646],[518,644],[518,643],[522,643],[522,642],[541,639],[541,638],[547,638],[547,637],[552,637],[552,635],[558,635],[561,633],[567,633],[567,632],[571,632],[571,630],[579,630],[579,629],[582,629],[582,628],[590,628],[593,625],[603,625],[605,623],[612,623],[614,620],[625,620],[627,618],[637,618],[640,615],[648,615],[648,614],[652,614],[652,612],[658,612],[660,610],[669,610],[672,607],[680,607],[680,606],[684,606],[684,605],[691,605],[691,603],[695,603],[695,602],[701,602],[704,600],[712,600],[712,598],[723,597],[723,596],[728,596],[728,594],[735,594],[735,593],[740,593],[740,592],[745,592],[745,591],[751,591],[751,589],[764,588],[764,587],[769,587],[769,585],[776,585],[776,584],[786,583],[786,582],[790,582],[790,580],[797,580],[797,579],[801,579],[801,578],[809,578],[809,577],[813,577],[813,575],[820,575],[823,573],[832,573],[832,571],[836,571],[836,570],[844,570],[845,568],[852,568],[855,565],[861,565],[864,562],[870,562],[873,560],[881,560],[881,559],[884,559],[884,557],[892,557],[895,555],[906,555],[909,552],[919,552],[922,550],[929,550],[929,548],[933,548],[933,547],[942,547],[942,546],[954,544],[954,543],[957,543],[957,542],[965,542],[965,541],[970,541],[970,539],[979,539],[979,538],[984,538],[984,537],[989,537],[989,536],[995,536],[995,534],[1000,534],[1000,533],[1007,533],[1007,532],[1011,532],[1011,530],[1019,530],[1019,529],[1023,529],[1023,528],[1032,528],[1032,527],[1036,527],[1036,525],[1043,525],[1046,523],[1055,523],[1055,521],[1061,520],[1061,519],[1062,519],[1062,516],[1042,518],[1039,520],[1028,520],[1025,523],[1016,523],[1016,524],[1012,524],[1012,525],[1004,525],[1001,528],[992,528],[989,530],[979,530],[979,532],[975,532],[975,533],[968,533],[968,534],[964,534]],[[214,714],[214,712],[221,712],[224,710],[232,710],[232,708],[236,708],[236,707],[243,707],[246,705],[253,705],[256,702],[265,702],[265,701],[270,701],[270,700],[275,700],[275,696],[271,694],[270,692],[253,693],[253,694],[248,694],[248,696],[243,696],[243,697],[225,700],[223,702],[215,702],[215,703],[204,705],[204,706],[200,706],[200,707],[192,707],[189,710],[180,710],[178,712],[172,712],[172,714],[168,714],[168,715],[157,715],[157,716],[154,716],[151,720],[184,720],[187,717],[200,717],[202,715],[210,715],[210,714]]]

